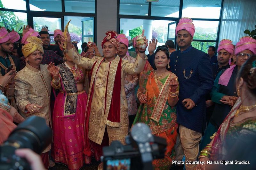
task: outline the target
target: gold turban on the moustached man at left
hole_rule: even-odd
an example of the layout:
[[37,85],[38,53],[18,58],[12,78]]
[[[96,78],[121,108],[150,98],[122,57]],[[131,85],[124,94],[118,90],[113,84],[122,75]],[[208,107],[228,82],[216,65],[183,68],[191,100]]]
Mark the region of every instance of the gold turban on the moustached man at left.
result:
[[44,54],[43,41],[37,37],[28,37],[28,43],[22,46],[22,53],[24,57],[28,57],[30,54],[34,53],[36,50]]

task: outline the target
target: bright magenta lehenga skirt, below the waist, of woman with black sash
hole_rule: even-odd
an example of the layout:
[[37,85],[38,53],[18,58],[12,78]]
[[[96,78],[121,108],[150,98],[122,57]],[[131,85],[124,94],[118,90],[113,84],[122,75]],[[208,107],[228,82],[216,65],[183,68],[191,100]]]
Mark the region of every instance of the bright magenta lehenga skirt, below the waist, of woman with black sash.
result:
[[85,91],[78,92],[76,114],[63,117],[64,93],[59,93],[53,111],[53,151],[55,162],[61,162],[68,169],[80,169],[84,165],[84,119],[87,102]]

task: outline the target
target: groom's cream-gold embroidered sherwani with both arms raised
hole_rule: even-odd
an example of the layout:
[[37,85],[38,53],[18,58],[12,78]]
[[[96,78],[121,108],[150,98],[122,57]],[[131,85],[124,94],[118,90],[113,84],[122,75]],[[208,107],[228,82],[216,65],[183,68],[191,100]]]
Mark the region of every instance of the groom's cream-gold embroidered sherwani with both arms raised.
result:
[[[125,136],[128,133],[128,106],[124,90],[125,75],[139,74],[145,66],[147,57],[145,56],[145,59],[142,59],[137,56],[135,63],[122,60],[120,106],[116,106],[120,107],[120,122],[111,122],[108,120],[108,113],[111,105],[116,70],[120,61],[120,57],[116,56],[116,58],[111,61],[109,67],[110,62],[107,60],[85,58],[74,51],[74,49],[68,51],[68,56],[71,57],[76,64],[86,69],[92,69],[94,65],[92,70],[92,81],[90,83],[89,89],[90,93],[88,94],[87,102],[87,107],[88,103],[91,103],[91,112],[89,113],[89,139],[97,144],[101,144],[107,125],[109,143],[111,143],[113,140],[120,140],[123,144],[125,144]],[[105,76],[105,71],[108,69],[108,67],[109,72],[107,78],[107,76]],[[92,84],[95,85],[92,87]],[[102,86],[100,84],[102,84]],[[93,94],[91,94],[92,88],[94,88]],[[106,88],[108,89],[107,93]],[[107,94],[107,96],[105,96],[105,94]],[[91,95],[92,100],[90,101]]]

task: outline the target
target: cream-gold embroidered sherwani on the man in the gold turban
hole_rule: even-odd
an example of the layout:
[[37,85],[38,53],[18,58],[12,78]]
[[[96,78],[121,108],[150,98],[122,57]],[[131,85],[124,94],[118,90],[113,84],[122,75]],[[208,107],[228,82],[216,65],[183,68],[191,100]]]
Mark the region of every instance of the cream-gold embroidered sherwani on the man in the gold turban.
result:
[[[15,98],[17,107],[23,117],[43,117],[49,126],[51,123],[50,94],[52,77],[47,67],[47,65],[40,65],[40,70],[38,70],[27,63],[26,67],[15,76]],[[25,111],[26,105],[31,103],[42,106],[39,113]],[[48,152],[50,149],[51,145],[48,145],[42,153]]]

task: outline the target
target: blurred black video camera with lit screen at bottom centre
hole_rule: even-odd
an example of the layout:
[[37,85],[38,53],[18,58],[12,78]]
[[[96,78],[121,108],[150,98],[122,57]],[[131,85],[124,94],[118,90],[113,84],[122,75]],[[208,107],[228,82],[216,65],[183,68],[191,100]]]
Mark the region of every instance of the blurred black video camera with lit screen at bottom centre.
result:
[[110,146],[103,147],[101,161],[104,170],[153,170],[152,161],[164,158],[166,140],[152,135],[144,123],[135,124],[125,142],[127,145],[116,140]]

